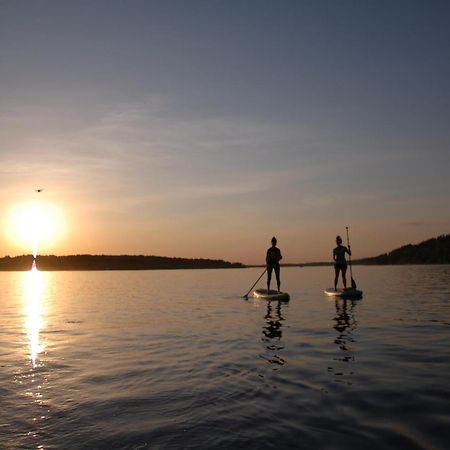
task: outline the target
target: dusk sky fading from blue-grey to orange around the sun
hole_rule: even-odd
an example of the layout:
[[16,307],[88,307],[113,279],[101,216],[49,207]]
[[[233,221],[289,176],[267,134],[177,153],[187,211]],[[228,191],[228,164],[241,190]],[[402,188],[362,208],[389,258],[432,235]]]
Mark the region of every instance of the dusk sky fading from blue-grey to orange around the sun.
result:
[[[449,13],[0,0],[0,219],[56,208],[42,254],[248,264],[272,236],[297,263],[347,226],[354,257],[449,233]],[[31,253],[11,231],[0,256]]]

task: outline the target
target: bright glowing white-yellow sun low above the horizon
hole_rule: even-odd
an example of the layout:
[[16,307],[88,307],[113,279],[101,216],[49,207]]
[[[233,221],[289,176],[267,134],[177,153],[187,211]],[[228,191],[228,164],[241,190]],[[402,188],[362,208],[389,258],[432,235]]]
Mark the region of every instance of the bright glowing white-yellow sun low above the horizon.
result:
[[43,201],[19,203],[10,208],[6,218],[9,239],[22,251],[38,252],[52,247],[64,233],[60,208]]

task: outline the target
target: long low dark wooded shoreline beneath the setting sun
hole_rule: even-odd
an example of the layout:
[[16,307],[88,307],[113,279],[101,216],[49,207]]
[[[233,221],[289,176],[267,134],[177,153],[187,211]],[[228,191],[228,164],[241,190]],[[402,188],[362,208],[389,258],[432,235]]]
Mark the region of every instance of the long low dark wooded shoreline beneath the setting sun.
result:
[[[30,270],[32,255],[0,258],[0,271]],[[162,269],[232,269],[243,268],[239,262],[222,259],[170,258],[145,255],[39,255],[39,270],[162,270]]]

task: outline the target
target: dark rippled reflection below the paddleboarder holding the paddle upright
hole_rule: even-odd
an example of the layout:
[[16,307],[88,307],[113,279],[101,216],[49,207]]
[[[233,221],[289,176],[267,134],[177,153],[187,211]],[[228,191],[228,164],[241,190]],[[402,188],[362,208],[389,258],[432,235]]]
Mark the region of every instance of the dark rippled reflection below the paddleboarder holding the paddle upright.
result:
[[344,381],[343,377],[353,375],[354,371],[352,369],[349,370],[349,367],[345,366],[345,364],[356,362],[356,352],[353,344],[356,342],[354,332],[358,327],[356,320],[357,303],[357,301],[353,300],[335,300],[336,316],[333,318],[333,328],[337,331],[337,336],[334,339],[334,343],[342,353],[333,358],[333,361],[339,363],[339,367],[328,367],[328,372],[335,375],[335,381],[346,382],[347,384],[352,383],[348,380]]

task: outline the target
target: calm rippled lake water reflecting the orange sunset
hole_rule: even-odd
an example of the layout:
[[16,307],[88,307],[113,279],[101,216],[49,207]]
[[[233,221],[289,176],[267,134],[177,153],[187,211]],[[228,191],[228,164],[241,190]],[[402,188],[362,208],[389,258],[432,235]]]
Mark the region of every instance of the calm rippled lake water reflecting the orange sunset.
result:
[[0,448],[448,448],[450,266],[260,272],[0,273]]

